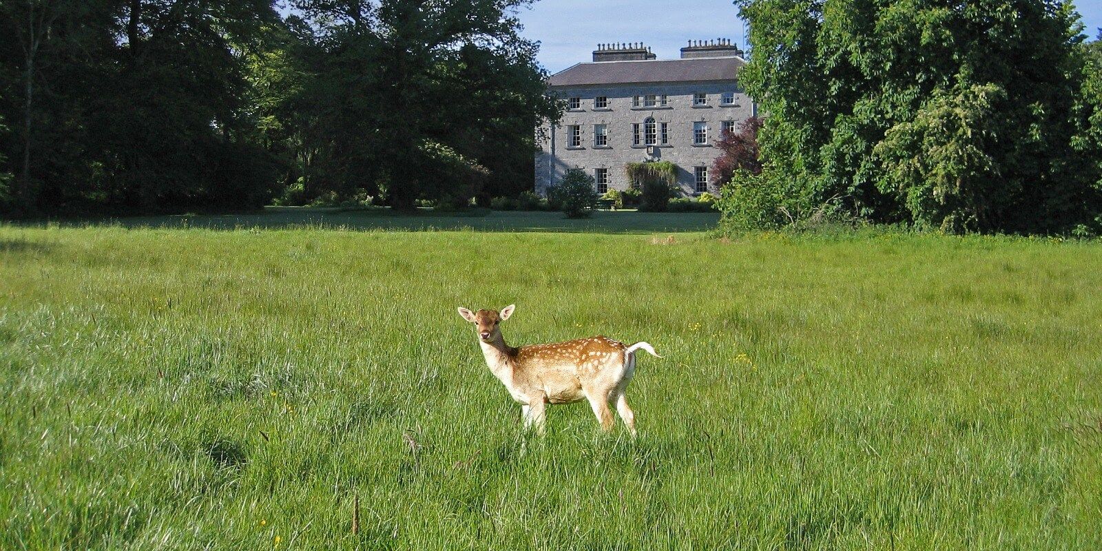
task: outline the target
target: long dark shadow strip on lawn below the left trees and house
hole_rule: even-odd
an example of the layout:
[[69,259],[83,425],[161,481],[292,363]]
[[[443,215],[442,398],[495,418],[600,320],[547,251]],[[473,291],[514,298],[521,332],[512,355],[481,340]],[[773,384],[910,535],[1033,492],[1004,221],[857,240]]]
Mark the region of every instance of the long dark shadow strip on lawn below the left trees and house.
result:
[[[343,229],[381,231],[548,231],[594,234],[653,234],[705,231],[715,227],[717,213],[638,213],[633,210],[594,212],[588,218],[566,218],[562,213],[474,210],[439,213],[420,209],[412,213],[389,208],[341,210],[333,208],[269,207],[244,214],[163,215],[101,217],[48,220],[66,227],[97,225],[126,228],[204,228],[240,229]],[[46,220],[15,223],[36,227]]]

